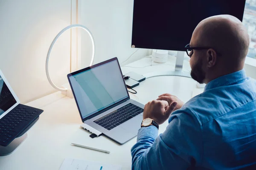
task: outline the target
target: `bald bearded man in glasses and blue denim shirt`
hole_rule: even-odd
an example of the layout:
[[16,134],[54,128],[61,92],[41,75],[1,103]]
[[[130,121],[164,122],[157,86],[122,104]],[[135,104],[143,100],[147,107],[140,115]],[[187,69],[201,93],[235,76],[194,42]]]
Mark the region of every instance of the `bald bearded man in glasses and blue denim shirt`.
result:
[[256,80],[243,69],[248,46],[247,30],[236,17],[218,15],[198,24],[186,49],[191,77],[207,84],[204,93],[185,104],[162,94],[145,105],[131,148],[133,170],[256,169]]

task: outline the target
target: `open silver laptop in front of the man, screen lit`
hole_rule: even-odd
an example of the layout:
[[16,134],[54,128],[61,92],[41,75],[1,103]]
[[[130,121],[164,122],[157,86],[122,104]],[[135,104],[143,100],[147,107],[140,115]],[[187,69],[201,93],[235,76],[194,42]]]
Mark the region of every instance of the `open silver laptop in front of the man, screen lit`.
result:
[[130,99],[116,57],[67,77],[85,124],[119,144],[137,136],[144,105]]

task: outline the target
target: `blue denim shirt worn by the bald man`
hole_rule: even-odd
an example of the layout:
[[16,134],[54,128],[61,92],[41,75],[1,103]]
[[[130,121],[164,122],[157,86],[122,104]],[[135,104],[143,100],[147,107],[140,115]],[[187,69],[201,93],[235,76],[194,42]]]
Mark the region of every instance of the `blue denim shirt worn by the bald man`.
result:
[[133,170],[256,169],[256,80],[237,71],[209,82],[158,136],[140,128]]

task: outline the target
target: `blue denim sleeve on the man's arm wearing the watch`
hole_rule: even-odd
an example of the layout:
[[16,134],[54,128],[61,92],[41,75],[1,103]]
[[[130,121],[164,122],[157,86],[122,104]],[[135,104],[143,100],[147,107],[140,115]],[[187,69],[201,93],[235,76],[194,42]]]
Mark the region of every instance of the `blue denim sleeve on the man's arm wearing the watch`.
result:
[[169,125],[158,136],[155,126],[142,127],[131,148],[132,170],[183,170],[201,164],[201,125],[188,109],[169,117]]

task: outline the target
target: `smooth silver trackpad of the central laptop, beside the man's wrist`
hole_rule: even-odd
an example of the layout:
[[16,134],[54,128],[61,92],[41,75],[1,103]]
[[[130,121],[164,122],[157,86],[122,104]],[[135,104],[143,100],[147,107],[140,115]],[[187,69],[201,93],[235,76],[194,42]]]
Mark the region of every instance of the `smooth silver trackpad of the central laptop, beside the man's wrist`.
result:
[[139,114],[133,117],[132,119],[128,120],[127,122],[123,123],[121,127],[137,135],[142,121],[143,121],[143,116]]

